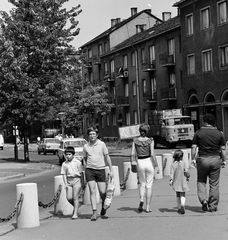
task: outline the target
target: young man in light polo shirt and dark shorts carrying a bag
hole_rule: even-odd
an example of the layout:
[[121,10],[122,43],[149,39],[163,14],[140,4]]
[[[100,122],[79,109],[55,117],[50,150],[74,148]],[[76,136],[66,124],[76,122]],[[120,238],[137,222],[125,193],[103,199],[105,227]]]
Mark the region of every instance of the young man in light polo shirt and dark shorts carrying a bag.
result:
[[89,127],[87,130],[89,142],[83,147],[83,161],[85,166],[86,182],[89,186],[90,201],[92,207],[91,221],[97,220],[97,202],[96,202],[96,184],[102,200],[100,215],[106,214],[104,209],[104,201],[106,198],[106,175],[105,160],[109,166],[110,177],[114,177],[112,169],[112,161],[109,156],[105,143],[98,139],[98,129],[96,126]]

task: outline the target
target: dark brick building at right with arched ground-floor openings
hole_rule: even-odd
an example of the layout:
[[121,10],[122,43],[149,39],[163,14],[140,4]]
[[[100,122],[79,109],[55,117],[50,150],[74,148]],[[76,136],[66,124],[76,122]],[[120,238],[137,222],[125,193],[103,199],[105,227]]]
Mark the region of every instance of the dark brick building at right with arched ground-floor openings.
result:
[[196,129],[212,113],[228,140],[227,0],[176,2],[181,23],[183,107]]

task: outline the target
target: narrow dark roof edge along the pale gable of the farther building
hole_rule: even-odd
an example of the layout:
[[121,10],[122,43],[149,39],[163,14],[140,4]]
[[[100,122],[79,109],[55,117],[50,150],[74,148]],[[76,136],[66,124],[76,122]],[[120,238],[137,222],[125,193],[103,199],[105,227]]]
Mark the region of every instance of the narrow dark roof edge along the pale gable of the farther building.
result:
[[102,37],[108,36],[109,34],[111,34],[111,33],[112,33],[113,31],[115,31],[116,29],[122,27],[122,26],[125,25],[126,23],[130,22],[132,19],[138,17],[138,16],[139,16],[140,14],[142,14],[143,12],[149,14],[151,17],[154,17],[154,18],[157,19],[158,21],[162,22],[162,20],[161,20],[160,18],[158,18],[158,17],[154,16],[153,14],[151,14],[147,9],[144,9],[144,10],[142,10],[142,11],[140,11],[140,12],[132,15],[131,17],[129,17],[129,18],[127,18],[127,19],[125,19],[125,20],[123,20],[123,21],[115,24],[114,26],[110,27],[109,29],[107,29],[107,30],[104,31],[103,33],[99,34],[98,36],[96,36],[95,38],[93,38],[92,40],[90,40],[89,42],[83,44],[83,45],[81,46],[81,48],[89,45],[89,44],[92,43],[92,42],[97,41],[98,39],[100,39],[100,38],[102,38]]

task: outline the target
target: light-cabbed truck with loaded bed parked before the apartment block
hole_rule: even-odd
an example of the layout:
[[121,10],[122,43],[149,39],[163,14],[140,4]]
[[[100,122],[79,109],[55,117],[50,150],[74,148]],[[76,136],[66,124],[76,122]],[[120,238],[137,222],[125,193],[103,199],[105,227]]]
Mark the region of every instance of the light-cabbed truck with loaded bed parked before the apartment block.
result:
[[148,124],[148,136],[153,137],[155,146],[160,143],[167,148],[175,148],[177,144],[184,143],[191,147],[194,125],[190,116],[182,115],[181,109],[150,110]]

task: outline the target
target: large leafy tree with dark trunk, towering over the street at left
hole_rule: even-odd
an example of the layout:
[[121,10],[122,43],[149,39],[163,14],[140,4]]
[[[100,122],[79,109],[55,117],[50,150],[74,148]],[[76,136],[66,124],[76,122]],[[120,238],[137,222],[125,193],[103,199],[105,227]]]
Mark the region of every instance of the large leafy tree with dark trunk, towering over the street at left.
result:
[[75,71],[70,42],[79,34],[81,10],[66,10],[67,1],[9,0],[10,14],[0,12],[0,118],[23,131],[27,161],[28,129],[65,103],[66,82]]

